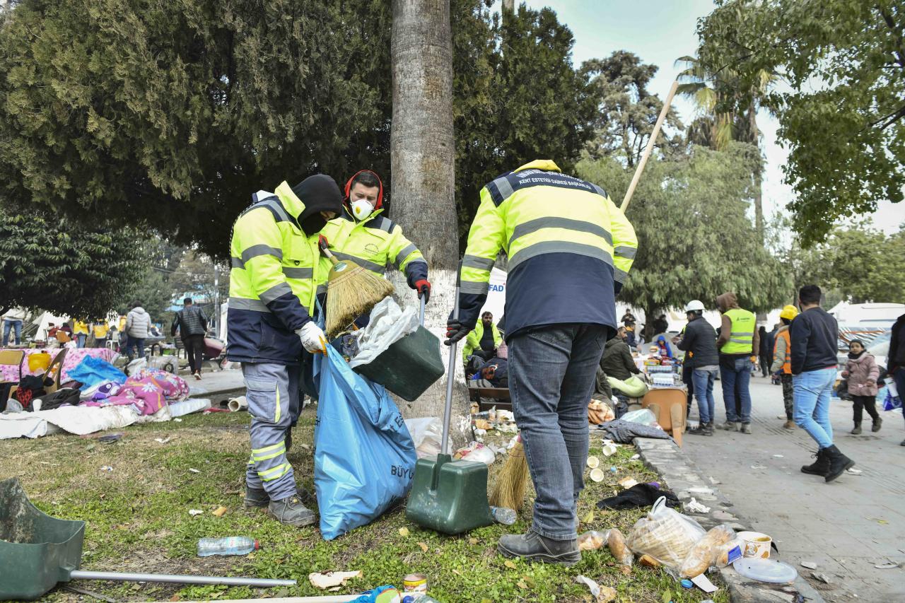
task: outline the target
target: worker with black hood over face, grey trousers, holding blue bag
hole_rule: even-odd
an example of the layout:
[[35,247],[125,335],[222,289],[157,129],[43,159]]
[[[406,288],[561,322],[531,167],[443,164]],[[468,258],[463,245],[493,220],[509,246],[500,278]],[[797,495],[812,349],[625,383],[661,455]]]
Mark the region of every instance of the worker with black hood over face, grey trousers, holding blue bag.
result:
[[252,416],[245,504],[268,506],[278,521],[303,526],[314,513],[299,500],[286,439],[300,408],[302,349],[327,345],[311,320],[323,280],[318,238],[342,211],[342,195],[319,174],[259,191],[252,201],[233,225],[226,347],[227,359],[242,362]]

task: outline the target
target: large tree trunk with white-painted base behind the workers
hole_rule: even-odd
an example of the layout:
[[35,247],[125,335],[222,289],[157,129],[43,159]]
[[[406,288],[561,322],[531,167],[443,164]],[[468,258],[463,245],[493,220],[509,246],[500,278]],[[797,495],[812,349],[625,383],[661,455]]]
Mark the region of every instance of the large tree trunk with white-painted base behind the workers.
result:
[[[459,258],[455,206],[455,146],[452,134],[452,30],[449,0],[393,0],[391,44],[393,123],[392,218],[417,244],[433,283],[424,326],[441,340],[452,309]],[[399,273],[392,277],[406,304],[417,303]],[[443,349],[444,366],[449,348]],[[460,347],[461,350],[461,347]],[[462,430],[468,397],[456,362],[452,431]],[[443,416],[446,379],[412,403],[405,416]]]

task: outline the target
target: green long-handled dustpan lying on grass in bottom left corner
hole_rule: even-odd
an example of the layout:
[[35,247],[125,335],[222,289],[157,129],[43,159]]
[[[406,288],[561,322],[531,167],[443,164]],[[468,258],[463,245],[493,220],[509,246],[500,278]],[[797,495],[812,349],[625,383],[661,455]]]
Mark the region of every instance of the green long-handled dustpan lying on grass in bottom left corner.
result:
[[295,584],[295,580],[82,571],[79,564],[84,535],[85,522],[51,517],[28,500],[19,480],[0,481],[0,601],[39,598],[57,582],[71,579],[252,587]]

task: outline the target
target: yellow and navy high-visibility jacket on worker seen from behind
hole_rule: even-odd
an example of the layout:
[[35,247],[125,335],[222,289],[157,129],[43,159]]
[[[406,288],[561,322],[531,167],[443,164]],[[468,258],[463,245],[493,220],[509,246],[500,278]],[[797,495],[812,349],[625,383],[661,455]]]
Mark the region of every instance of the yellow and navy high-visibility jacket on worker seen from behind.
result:
[[509,256],[506,337],[562,322],[615,328],[615,293],[632,266],[634,229],[597,185],[532,161],[481,189],[462,258],[462,321],[478,320],[491,268]]

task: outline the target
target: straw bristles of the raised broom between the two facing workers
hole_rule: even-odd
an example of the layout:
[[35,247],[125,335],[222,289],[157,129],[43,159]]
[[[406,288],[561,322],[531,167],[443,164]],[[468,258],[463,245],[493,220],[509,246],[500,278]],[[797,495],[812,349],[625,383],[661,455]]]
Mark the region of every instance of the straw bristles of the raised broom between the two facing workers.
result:
[[331,272],[327,285],[327,335],[330,337],[393,293],[393,284],[384,277],[348,264],[348,269],[342,272]]

